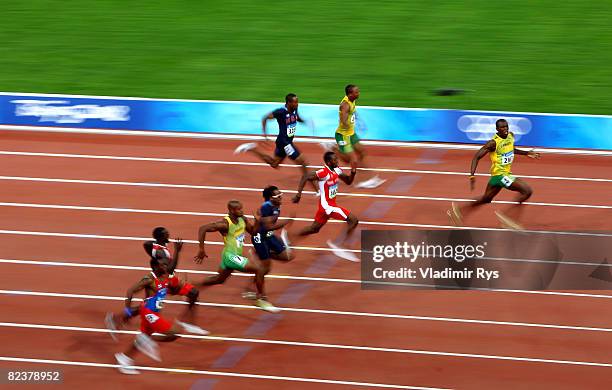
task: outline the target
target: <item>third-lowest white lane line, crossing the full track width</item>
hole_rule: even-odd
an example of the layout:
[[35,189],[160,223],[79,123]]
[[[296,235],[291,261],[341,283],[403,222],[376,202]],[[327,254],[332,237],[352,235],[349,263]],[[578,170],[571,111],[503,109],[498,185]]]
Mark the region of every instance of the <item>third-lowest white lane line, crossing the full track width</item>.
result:
[[[20,290],[0,290],[0,294],[22,295],[22,296],[44,296],[44,297],[53,297],[53,298],[112,300],[112,301],[124,301],[125,300],[125,297],[113,297],[113,296],[105,296],[105,295],[65,294],[65,293],[20,291]],[[612,296],[610,296],[610,298],[612,298]],[[142,299],[137,299],[137,298],[135,299],[138,301],[142,300]],[[178,301],[178,300],[173,300],[173,299],[168,299],[166,300],[166,302],[171,303],[171,304],[177,304],[177,305],[187,304],[184,301]],[[198,305],[211,306],[211,307],[230,307],[230,308],[237,308],[237,309],[255,309],[254,306],[229,304],[229,303],[198,302]],[[532,322],[475,320],[475,319],[467,319],[467,318],[413,316],[413,315],[407,315],[407,314],[385,314],[385,313],[368,313],[368,312],[354,312],[354,311],[341,311],[341,310],[306,309],[306,308],[299,308],[299,307],[282,307],[281,310],[285,312],[295,312],[295,313],[340,315],[340,316],[353,316],[353,317],[390,318],[390,319],[399,319],[399,320],[449,322],[449,323],[461,323],[461,324],[509,326],[509,327],[535,328],[535,329],[557,329],[557,330],[567,330],[567,331],[606,332],[606,333],[612,332],[612,328],[598,328],[598,327],[558,325],[558,324],[539,324],[539,323],[532,323]]]

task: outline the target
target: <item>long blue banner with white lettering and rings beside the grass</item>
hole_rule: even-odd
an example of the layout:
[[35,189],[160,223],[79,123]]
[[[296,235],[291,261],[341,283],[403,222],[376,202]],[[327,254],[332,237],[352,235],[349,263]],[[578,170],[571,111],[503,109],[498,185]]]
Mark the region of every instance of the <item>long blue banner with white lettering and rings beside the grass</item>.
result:
[[[107,98],[69,95],[0,94],[0,124],[221,134],[260,134],[261,119],[282,103]],[[300,104],[314,126],[297,136],[331,138],[338,106]],[[483,143],[495,121],[508,120],[517,145],[612,150],[612,116],[535,114],[413,108],[359,107],[362,139]],[[277,126],[268,129],[275,134]]]

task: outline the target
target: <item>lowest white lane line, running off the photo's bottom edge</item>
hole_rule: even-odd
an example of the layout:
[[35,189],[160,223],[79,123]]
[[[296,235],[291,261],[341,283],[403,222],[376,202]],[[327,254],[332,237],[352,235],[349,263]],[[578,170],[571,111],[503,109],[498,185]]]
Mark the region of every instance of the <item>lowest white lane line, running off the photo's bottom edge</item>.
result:
[[[58,364],[58,365],[63,365],[63,366],[80,366],[80,367],[97,367],[97,368],[118,368],[119,367],[119,365],[117,364],[108,364],[108,363],[78,362],[78,361],[72,361],[72,360],[32,359],[32,358],[20,358],[20,357],[9,357],[9,356],[0,356],[0,361],[19,362],[19,363],[37,363],[37,364]],[[269,380],[289,381],[289,382],[310,382],[310,383],[321,383],[321,384],[332,384],[332,385],[381,387],[381,388],[390,388],[390,389],[446,390],[446,389],[435,388],[435,387],[415,387],[415,386],[405,386],[405,385],[389,385],[389,384],[382,384],[382,383],[339,381],[339,380],[332,380],[332,379],[299,378],[299,377],[278,376],[278,375],[243,374],[239,372],[226,372],[226,371],[188,370],[184,368],[165,368],[165,367],[149,367],[149,366],[132,366],[132,367],[138,370],[142,370],[142,371],[172,372],[172,373],[178,373],[178,374],[195,374],[195,375],[225,376],[225,377],[234,377],[234,378],[269,379]]]

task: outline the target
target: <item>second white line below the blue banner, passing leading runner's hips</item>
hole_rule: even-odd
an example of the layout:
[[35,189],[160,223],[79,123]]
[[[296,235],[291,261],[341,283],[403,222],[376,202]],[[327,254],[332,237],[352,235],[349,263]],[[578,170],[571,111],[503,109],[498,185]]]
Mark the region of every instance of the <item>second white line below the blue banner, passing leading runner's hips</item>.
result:
[[[130,156],[110,156],[110,155],[95,155],[95,154],[68,154],[68,153],[40,153],[40,152],[14,152],[0,151],[0,155],[5,156],[29,156],[29,157],[58,157],[58,158],[83,158],[94,160],[120,160],[120,161],[145,161],[145,162],[163,162],[163,163],[178,163],[178,164],[211,164],[211,165],[238,165],[238,166],[257,166],[269,168],[270,165],[259,162],[243,162],[243,161],[220,161],[220,160],[192,160],[179,158],[156,158],[156,157],[130,157]],[[295,164],[280,164],[285,168],[300,168]],[[309,165],[309,168],[322,168],[321,165]],[[342,169],[350,169],[350,167],[342,167]],[[420,169],[399,169],[399,168],[357,168],[360,171],[374,172],[390,172],[390,173],[417,173],[425,175],[452,175],[452,176],[467,176],[467,172],[453,171],[431,171]],[[486,173],[477,173],[476,176],[489,177]],[[603,178],[586,178],[586,177],[564,177],[564,176],[537,176],[537,175],[515,175],[526,179],[544,179],[544,180],[568,180],[568,181],[592,181],[612,183],[612,179]]]

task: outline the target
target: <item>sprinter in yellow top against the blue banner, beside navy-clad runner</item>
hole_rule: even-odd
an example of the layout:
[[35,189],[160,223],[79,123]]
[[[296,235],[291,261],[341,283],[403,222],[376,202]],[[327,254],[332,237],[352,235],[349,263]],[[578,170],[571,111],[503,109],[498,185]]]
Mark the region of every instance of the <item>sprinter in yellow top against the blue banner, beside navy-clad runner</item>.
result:
[[[346,94],[340,102],[340,120],[336,129],[336,143],[340,158],[345,162],[357,162],[358,166],[364,166],[365,151],[361,146],[359,137],[355,133],[355,123],[357,121],[356,101],[359,99],[359,87],[349,84],[344,88]],[[385,180],[377,176],[371,177],[360,183],[357,188],[376,188],[383,184]]]

